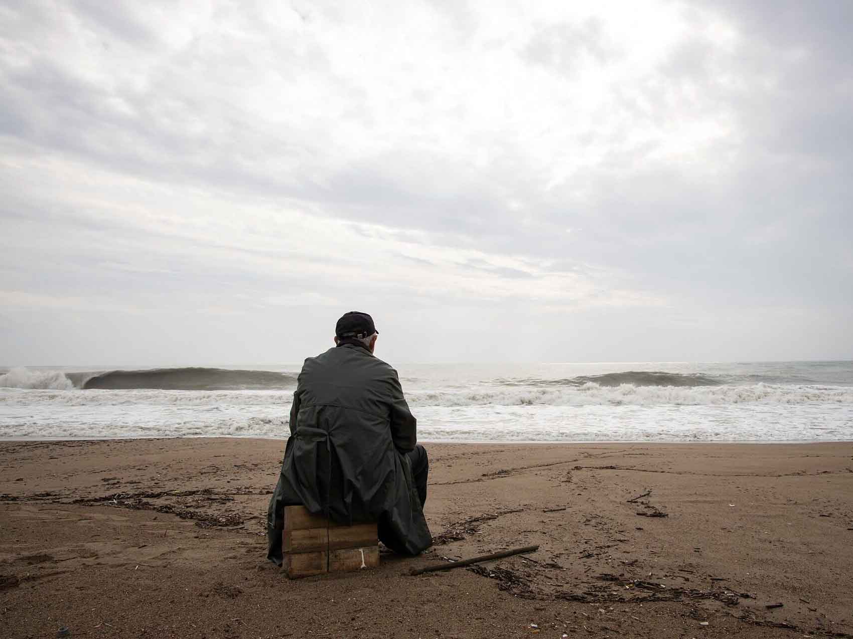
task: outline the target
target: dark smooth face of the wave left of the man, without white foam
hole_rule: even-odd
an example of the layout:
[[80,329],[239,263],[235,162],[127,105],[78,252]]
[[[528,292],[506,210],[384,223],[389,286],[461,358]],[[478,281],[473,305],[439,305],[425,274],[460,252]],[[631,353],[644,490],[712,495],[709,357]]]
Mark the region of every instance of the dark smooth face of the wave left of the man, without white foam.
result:
[[83,381],[85,390],[125,391],[149,388],[160,391],[252,391],[286,388],[294,375],[272,370],[184,369],[111,370]]

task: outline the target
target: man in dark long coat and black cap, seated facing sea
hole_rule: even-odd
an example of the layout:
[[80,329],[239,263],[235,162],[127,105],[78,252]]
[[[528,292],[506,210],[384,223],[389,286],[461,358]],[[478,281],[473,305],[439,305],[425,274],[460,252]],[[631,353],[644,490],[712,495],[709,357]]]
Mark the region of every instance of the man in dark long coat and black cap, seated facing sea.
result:
[[378,334],[372,317],[351,311],[335,326],[334,348],[305,360],[267,514],[270,561],[282,561],[284,507],[298,504],[339,524],[377,521],[380,540],[397,553],[432,544],[427,451],[397,371],[374,357]]

